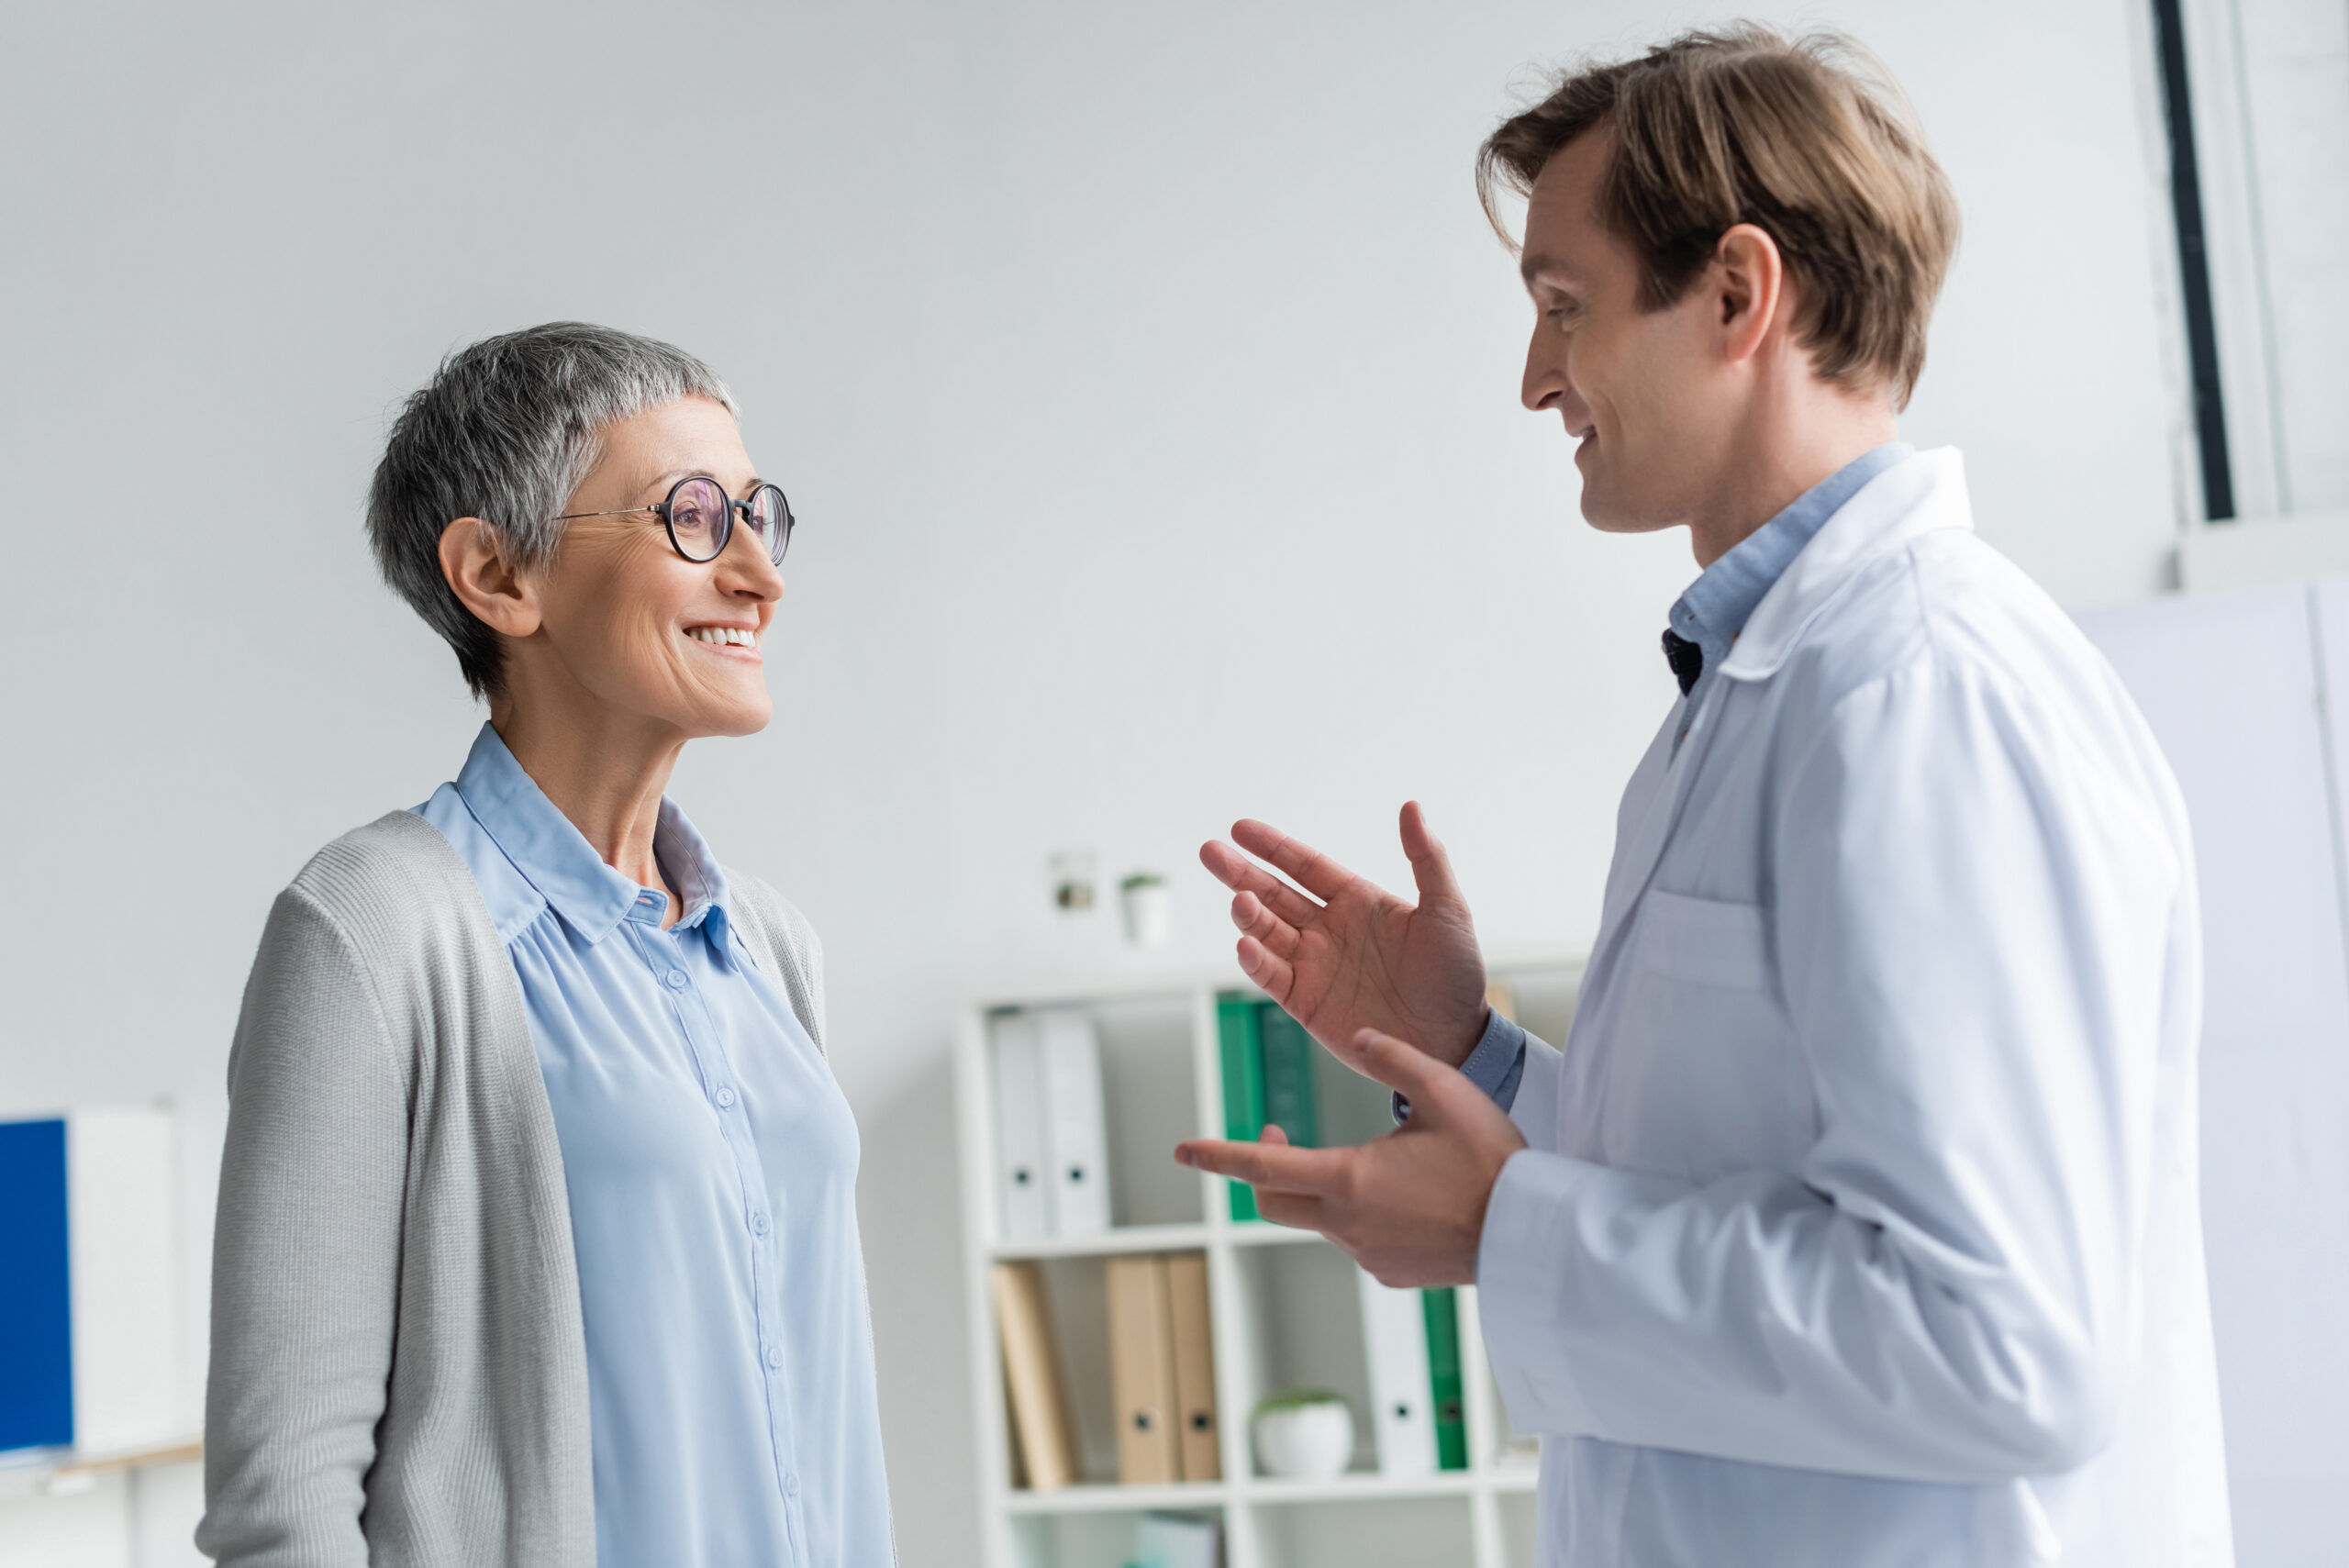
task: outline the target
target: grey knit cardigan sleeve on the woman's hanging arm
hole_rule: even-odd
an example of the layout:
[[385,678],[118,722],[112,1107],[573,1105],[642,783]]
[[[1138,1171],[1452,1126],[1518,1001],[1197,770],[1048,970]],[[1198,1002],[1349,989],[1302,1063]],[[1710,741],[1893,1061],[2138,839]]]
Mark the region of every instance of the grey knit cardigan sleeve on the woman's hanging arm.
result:
[[204,1521],[235,1568],[364,1568],[399,1293],[409,1082],[350,934],[270,911],[228,1059]]

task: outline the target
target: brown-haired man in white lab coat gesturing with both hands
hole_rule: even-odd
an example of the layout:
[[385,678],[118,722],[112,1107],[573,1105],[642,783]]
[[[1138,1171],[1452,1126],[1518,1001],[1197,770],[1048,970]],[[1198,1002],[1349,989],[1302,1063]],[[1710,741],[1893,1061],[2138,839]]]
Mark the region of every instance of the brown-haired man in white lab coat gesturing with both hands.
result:
[[1207,845],[1243,969],[1402,1122],[1179,1157],[1478,1284],[1546,1568],[2232,1561],[2187,819],[1959,455],[1898,441],[1957,237],[1914,117],[1731,28],[1560,77],[1480,174],[1529,197],[1525,406],[1583,514],[1691,533],[1682,699],[1564,1049],[1485,1005],[1416,805],[1416,904]]

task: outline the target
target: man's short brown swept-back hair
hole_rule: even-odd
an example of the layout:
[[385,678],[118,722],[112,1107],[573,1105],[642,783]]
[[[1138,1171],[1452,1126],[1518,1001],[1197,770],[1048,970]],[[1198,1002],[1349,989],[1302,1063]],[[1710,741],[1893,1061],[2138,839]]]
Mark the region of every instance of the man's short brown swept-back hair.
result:
[[1907,406],[1957,249],[1957,195],[1907,96],[1865,49],[1741,21],[1562,70],[1478,150],[1478,195],[1501,239],[1496,192],[1529,192],[1583,134],[1614,143],[1597,216],[1640,256],[1642,310],[1687,296],[1722,232],[1752,223],[1795,277],[1813,373],[1889,387]]

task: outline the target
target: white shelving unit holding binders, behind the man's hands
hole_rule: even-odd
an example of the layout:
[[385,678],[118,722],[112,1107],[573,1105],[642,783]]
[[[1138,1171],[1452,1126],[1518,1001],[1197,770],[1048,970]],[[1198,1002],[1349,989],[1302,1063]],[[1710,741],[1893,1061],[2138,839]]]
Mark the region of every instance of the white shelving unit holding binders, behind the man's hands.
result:
[[[1581,960],[1529,955],[1492,962],[1513,988],[1520,1021],[1564,1040]],[[977,995],[956,1028],[963,1150],[965,1322],[977,1411],[982,1563],[987,1568],[1120,1568],[1144,1512],[1179,1512],[1224,1526],[1226,1568],[1360,1568],[1362,1563],[1534,1561],[1534,1455],[1508,1432],[1485,1361],[1475,1289],[1459,1293],[1468,1469],[1386,1476],[1369,1432],[1369,1373],[1355,1265],[1318,1235],[1233,1221],[1224,1181],[1174,1164],[1174,1143],[1221,1136],[1224,1082],[1217,998],[1259,995],[1231,974],[1158,976]],[[1104,1235],[1001,1242],[991,1115],[989,1019],[1019,1007],[1092,1012],[1102,1042],[1113,1228]],[[1391,1122],[1386,1089],[1320,1054],[1322,1141],[1360,1143]],[[1118,1486],[1111,1427],[1104,1258],[1203,1253],[1214,1331],[1221,1481]],[[994,1263],[1043,1265],[1062,1385],[1076,1427],[1081,1481],[1034,1493],[1015,1486],[989,1275]],[[1334,1481],[1264,1476],[1247,1415],[1271,1392],[1315,1385],[1346,1394],[1355,1455]]]

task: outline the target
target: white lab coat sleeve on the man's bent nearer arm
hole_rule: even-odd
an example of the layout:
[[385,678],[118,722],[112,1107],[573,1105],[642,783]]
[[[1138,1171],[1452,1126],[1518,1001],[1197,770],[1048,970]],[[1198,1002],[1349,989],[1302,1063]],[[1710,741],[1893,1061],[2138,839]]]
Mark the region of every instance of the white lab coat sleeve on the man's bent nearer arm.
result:
[[1510,1413],[1863,1476],[2069,1469],[2133,1359],[2178,843],[2095,723],[1940,657],[1792,739],[1755,1002],[1816,1143],[1691,1183],[1529,1138],[1478,1268]]

